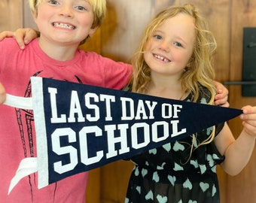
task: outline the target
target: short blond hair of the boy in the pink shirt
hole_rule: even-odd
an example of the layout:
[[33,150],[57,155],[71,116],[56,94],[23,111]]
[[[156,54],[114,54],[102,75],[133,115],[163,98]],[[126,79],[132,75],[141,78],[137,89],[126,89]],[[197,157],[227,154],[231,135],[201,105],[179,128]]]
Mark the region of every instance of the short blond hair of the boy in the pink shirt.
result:
[[[29,7],[32,13],[35,14],[35,17],[38,15],[38,5],[41,3],[41,1],[42,0],[29,0]],[[105,0],[87,0],[87,1],[93,7],[92,29],[95,29],[96,27],[99,27],[102,25],[102,22],[105,18],[105,14],[107,11],[106,1]],[[90,36],[88,35],[87,38],[81,42],[81,44],[84,44],[84,42],[87,41],[89,38]]]

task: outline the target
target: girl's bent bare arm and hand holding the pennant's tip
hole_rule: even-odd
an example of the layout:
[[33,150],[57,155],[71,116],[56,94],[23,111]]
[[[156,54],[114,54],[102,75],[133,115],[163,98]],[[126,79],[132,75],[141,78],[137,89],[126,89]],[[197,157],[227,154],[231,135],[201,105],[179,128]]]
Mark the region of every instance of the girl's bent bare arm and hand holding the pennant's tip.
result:
[[245,168],[251,153],[254,150],[256,139],[256,107],[246,106],[242,108],[241,115],[243,129],[235,140],[230,128],[225,123],[224,128],[215,138],[215,144],[221,154],[225,156],[221,167],[227,174],[236,175]]

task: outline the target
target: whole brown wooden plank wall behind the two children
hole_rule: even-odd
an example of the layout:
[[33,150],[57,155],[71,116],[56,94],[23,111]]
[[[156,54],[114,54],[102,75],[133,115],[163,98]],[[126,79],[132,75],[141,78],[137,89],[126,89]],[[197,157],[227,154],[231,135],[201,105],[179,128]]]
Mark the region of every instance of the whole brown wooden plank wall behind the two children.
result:
[[[25,2],[25,3],[24,3]],[[35,28],[27,5],[28,0],[1,0],[0,31],[15,30],[21,26]],[[215,58],[216,80],[242,79],[242,28],[256,27],[254,0],[108,0],[108,15],[102,27],[81,48],[96,51],[117,61],[129,62],[146,24],[162,8],[169,5],[193,3],[209,22],[218,43]],[[25,13],[24,13],[25,12]],[[24,21],[23,21],[24,20]],[[243,98],[241,86],[227,86],[230,106],[256,105],[255,98]],[[238,135],[239,118],[229,122]],[[256,150],[251,161],[236,177],[230,177],[218,168],[221,203],[254,202],[256,199]],[[87,203],[123,202],[126,186],[133,168],[131,162],[118,161],[90,171]]]

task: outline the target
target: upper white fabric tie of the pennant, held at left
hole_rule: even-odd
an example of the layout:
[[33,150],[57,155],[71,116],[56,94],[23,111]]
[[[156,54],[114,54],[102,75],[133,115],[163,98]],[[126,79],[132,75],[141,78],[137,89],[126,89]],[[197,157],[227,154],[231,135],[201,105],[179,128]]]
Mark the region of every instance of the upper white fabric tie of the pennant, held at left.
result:
[[6,94],[5,105],[14,107],[32,110],[32,98],[31,97],[20,97]]

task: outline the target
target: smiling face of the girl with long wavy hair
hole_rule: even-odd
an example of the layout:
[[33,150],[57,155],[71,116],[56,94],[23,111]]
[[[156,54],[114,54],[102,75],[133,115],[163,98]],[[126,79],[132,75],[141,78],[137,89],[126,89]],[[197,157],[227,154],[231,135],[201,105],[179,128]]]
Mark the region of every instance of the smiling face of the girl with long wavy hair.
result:
[[180,77],[192,56],[195,35],[194,19],[187,14],[177,14],[160,25],[145,47],[151,74]]

